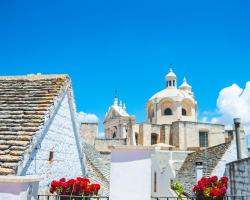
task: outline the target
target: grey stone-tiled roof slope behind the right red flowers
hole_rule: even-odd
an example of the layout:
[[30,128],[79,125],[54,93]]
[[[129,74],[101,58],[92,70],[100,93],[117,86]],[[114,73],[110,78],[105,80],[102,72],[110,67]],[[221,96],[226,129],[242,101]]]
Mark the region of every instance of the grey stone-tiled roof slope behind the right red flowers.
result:
[[216,168],[223,155],[229,149],[230,145],[231,142],[223,143],[188,154],[184,163],[182,164],[182,167],[176,175],[175,181],[178,181],[183,185],[187,194],[191,194],[193,186],[197,184],[196,163],[202,162],[204,169],[203,175],[211,176],[213,170]]

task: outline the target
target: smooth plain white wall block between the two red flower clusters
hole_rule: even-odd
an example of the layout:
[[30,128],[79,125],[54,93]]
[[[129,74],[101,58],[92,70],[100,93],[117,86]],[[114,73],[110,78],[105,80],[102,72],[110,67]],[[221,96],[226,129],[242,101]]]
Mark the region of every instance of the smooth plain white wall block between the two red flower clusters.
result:
[[151,199],[150,150],[111,152],[110,200]]

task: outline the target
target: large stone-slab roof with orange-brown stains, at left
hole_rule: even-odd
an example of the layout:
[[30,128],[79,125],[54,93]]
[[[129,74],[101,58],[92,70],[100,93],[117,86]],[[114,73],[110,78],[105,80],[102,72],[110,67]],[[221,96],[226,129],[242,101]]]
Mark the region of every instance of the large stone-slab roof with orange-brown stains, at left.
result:
[[67,80],[67,75],[0,77],[0,175],[16,175]]

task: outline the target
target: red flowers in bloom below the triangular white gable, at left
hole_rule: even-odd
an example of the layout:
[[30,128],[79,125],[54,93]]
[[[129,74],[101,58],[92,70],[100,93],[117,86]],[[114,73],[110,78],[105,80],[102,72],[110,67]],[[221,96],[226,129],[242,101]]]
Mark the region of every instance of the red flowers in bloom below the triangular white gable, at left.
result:
[[100,188],[99,184],[91,184],[88,178],[78,177],[68,181],[61,178],[59,181],[51,182],[50,193],[61,196],[60,200],[87,200],[88,198],[84,197],[97,196]]

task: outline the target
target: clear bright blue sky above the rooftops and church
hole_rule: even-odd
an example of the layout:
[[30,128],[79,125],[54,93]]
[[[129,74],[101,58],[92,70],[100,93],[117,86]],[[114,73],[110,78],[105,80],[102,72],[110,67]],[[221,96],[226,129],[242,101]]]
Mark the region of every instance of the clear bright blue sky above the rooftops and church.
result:
[[128,112],[165,87],[173,64],[199,115],[250,74],[249,1],[0,1],[0,75],[69,74],[78,111],[103,119],[114,91]]

